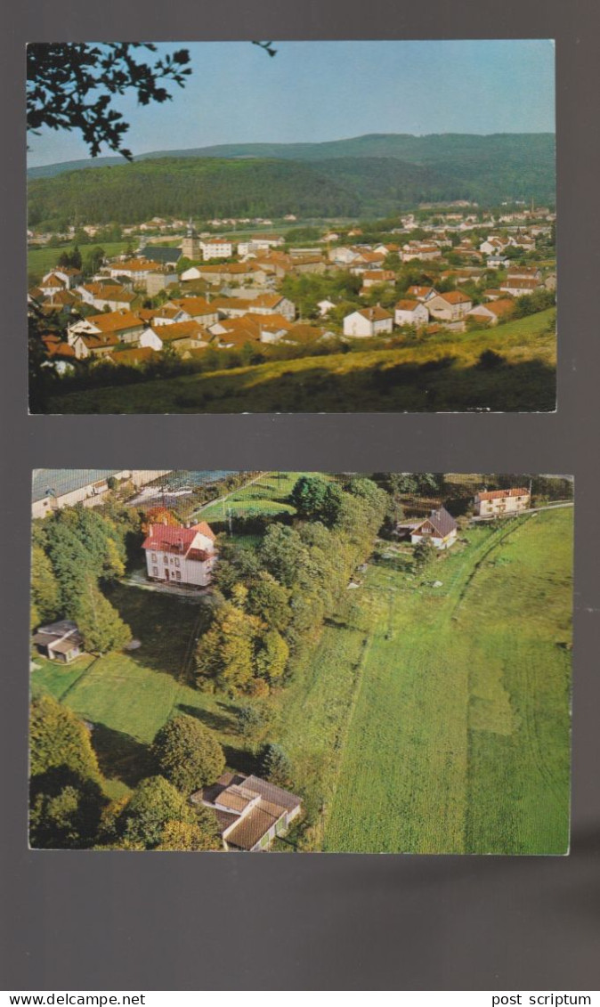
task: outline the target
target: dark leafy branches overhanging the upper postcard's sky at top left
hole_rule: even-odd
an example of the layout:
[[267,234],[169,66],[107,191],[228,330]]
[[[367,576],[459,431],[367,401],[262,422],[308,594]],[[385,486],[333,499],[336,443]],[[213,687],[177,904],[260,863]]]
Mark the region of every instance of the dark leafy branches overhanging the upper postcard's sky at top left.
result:
[[132,159],[122,146],[129,129],[112,107],[113,99],[133,90],[140,105],[171,99],[165,84],[185,85],[191,73],[187,49],[144,61],[138,50],[156,51],[151,42],[32,42],[27,46],[27,129],[79,131],[92,157],[103,144]]

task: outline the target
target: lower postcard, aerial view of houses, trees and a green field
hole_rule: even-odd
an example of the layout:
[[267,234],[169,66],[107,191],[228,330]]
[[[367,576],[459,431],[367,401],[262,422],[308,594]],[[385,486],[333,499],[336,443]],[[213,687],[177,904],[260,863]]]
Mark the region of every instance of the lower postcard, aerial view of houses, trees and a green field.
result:
[[32,489],[32,848],[568,852],[570,476]]

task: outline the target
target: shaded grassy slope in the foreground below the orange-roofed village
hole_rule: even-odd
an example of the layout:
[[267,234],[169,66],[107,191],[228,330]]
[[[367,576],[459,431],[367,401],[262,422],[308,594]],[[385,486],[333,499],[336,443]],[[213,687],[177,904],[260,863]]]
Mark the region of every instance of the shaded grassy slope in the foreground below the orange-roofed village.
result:
[[[556,402],[549,309],[494,329],[54,396],[52,413],[544,411]],[[504,364],[478,365],[493,349]]]

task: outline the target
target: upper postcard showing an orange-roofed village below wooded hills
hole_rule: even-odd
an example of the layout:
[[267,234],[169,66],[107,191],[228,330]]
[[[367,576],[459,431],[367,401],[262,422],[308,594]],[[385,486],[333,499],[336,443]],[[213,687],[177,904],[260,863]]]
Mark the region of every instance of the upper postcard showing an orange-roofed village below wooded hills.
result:
[[548,39],[27,47],[32,413],[551,412]]

